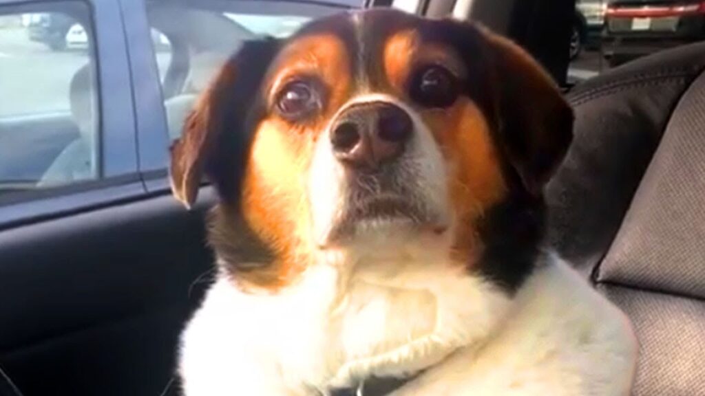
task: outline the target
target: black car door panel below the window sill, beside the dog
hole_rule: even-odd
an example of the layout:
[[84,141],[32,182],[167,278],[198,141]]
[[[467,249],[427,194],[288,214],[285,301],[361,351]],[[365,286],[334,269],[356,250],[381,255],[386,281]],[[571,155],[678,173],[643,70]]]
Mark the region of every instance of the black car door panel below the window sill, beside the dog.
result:
[[158,395],[213,268],[203,215],[167,194],[0,233],[0,363],[18,387]]

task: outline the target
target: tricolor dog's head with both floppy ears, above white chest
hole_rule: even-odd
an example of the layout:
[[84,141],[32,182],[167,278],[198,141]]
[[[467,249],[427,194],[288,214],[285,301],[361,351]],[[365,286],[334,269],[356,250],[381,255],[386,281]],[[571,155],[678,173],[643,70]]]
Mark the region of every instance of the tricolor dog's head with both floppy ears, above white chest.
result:
[[209,176],[221,216],[242,216],[274,254],[240,272],[259,285],[285,285],[332,249],[430,243],[472,268],[507,221],[489,213],[538,207],[571,128],[550,78],[505,39],[351,13],[245,44],[173,147],[172,184],[191,204]]

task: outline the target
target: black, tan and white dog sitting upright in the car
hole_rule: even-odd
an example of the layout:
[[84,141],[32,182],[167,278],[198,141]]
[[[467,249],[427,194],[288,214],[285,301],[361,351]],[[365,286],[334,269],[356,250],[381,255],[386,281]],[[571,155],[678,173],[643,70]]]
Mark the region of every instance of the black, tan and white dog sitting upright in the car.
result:
[[629,321],[542,245],[572,123],[468,22],[376,9],[243,44],[171,151],[183,204],[219,197],[185,395],[628,395]]

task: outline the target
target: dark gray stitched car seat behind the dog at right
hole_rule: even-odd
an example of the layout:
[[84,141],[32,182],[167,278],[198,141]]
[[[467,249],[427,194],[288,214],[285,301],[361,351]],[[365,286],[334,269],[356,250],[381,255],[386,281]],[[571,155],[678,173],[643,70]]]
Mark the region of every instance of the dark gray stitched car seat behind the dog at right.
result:
[[548,242],[630,316],[637,396],[705,395],[705,43],[577,86]]

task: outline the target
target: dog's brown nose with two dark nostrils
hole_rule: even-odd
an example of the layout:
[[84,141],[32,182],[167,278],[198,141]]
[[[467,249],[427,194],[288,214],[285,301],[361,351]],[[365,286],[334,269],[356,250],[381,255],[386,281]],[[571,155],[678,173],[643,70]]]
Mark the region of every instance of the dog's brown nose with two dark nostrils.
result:
[[341,113],[333,126],[333,152],[346,166],[376,170],[403,153],[413,128],[411,117],[399,106],[357,104]]

